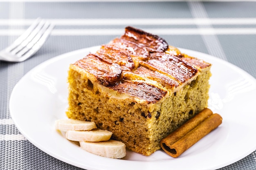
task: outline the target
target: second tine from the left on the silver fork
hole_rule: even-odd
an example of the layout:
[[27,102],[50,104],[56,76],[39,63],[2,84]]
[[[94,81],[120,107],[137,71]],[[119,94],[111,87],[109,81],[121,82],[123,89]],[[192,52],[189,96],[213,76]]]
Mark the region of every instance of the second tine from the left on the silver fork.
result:
[[42,20],[38,23],[38,25],[36,26],[36,28],[30,32],[30,34],[27,36],[27,38],[25,38],[25,40],[23,40],[18,46],[16,46],[16,48],[14,48],[12,51],[10,51],[13,55],[16,55],[16,53],[18,53],[20,50],[22,50],[25,46],[27,46],[27,44],[29,44],[29,42],[31,42],[31,40],[40,32],[40,30],[42,29],[42,27],[44,26],[45,21]]

